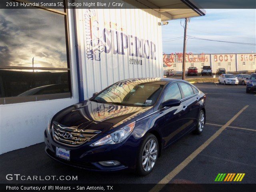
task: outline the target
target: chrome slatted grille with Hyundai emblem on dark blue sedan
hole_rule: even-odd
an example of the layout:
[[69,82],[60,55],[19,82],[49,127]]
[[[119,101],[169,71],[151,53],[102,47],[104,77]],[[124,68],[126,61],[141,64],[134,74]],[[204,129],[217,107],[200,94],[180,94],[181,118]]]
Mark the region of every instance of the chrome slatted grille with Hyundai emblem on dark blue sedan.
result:
[[52,136],[55,141],[61,144],[78,146],[91,140],[101,131],[96,130],[82,130],[72,127],[65,127],[58,122],[52,124]]

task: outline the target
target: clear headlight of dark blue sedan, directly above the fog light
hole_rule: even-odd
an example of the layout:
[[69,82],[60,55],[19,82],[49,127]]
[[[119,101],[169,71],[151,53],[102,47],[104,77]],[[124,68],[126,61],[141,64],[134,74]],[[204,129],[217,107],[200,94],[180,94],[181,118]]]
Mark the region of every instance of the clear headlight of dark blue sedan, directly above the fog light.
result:
[[132,122],[123,128],[101,138],[100,140],[94,142],[90,146],[100,146],[106,144],[118,144],[125,140],[131,133],[135,126],[135,122]]

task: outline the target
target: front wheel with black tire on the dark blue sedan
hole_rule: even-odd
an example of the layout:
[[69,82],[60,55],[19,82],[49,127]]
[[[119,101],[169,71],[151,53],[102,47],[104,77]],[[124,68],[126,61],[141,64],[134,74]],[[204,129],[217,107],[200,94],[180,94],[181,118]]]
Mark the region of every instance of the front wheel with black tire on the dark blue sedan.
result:
[[[148,153],[147,148],[151,146],[151,142],[153,143],[151,148],[152,152],[151,154],[147,154]],[[146,138],[144,139],[144,141],[142,142],[142,145],[140,146],[140,152],[137,158],[136,172],[138,175],[145,176],[153,170],[154,165],[156,164],[156,161],[158,158],[158,151],[159,151],[158,146],[159,144],[156,136],[154,136],[153,134],[146,134]],[[143,158],[143,156],[146,156],[146,158]],[[150,162],[148,161],[148,159],[150,159]],[[145,165],[143,165],[144,163]],[[154,164],[152,165],[152,163]]]

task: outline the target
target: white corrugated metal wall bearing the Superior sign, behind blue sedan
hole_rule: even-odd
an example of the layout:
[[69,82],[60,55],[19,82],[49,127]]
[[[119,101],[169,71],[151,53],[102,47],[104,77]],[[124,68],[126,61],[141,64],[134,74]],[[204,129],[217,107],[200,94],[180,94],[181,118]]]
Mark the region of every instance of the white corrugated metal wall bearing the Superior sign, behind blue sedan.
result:
[[84,98],[126,78],[163,76],[160,14],[124,4],[76,9]]

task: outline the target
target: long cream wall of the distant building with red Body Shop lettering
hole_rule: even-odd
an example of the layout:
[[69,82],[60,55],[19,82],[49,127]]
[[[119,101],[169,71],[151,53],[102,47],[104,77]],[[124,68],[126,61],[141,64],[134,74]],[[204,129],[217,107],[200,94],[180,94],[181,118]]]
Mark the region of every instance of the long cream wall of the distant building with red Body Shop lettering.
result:
[[[225,68],[227,72],[239,71],[255,71],[256,70],[256,54],[203,54],[205,60],[198,62],[196,58],[202,58],[202,54],[186,55],[186,72],[188,67],[194,66],[200,68],[202,66],[211,66],[212,72],[216,73],[218,68]],[[182,73],[182,54],[166,54],[163,55],[163,70],[174,69],[177,74]],[[190,57],[190,60],[188,59]],[[194,58],[192,62],[191,58]],[[200,59],[199,59],[200,60]]]

